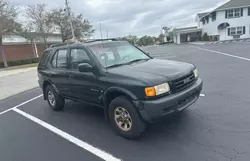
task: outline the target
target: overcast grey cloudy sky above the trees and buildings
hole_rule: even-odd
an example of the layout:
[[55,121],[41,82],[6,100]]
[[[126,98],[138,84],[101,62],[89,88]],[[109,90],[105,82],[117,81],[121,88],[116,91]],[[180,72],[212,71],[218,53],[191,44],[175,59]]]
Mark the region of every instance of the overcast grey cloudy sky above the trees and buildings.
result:
[[[44,3],[62,7],[65,0],[8,0],[20,11],[27,5]],[[68,0],[71,10],[83,13],[96,30],[93,38],[127,35],[158,36],[162,26],[195,25],[197,13],[212,10],[226,0]],[[21,14],[21,13],[20,13]],[[101,25],[100,25],[101,24]]]

